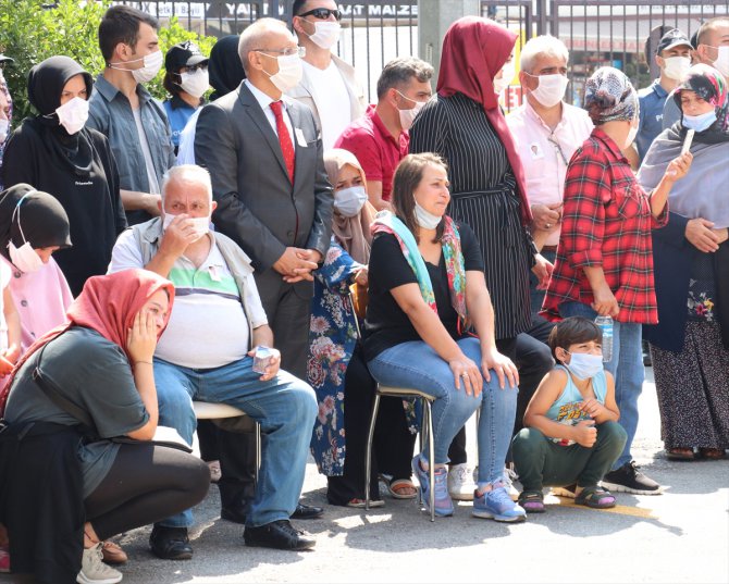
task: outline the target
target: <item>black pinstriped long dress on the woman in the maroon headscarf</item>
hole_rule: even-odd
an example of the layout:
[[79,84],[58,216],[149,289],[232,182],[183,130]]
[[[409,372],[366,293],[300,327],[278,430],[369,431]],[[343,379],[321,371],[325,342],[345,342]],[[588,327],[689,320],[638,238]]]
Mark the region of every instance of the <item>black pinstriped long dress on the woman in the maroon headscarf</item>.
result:
[[432,99],[410,129],[410,152],[435,152],[448,163],[447,214],[469,225],[481,246],[496,338],[527,331],[529,270],[536,250],[521,225],[506,150],[483,107],[462,94]]

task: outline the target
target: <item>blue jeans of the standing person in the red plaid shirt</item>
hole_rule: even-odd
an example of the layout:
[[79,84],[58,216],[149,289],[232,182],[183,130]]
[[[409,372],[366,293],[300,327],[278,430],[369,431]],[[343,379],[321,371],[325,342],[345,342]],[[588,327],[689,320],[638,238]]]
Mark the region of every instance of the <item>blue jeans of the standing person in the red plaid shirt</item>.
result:
[[[584,316],[590,320],[595,320],[597,316],[591,307],[582,302],[559,305],[559,314],[563,318]],[[635,437],[635,428],[638,428],[638,398],[643,390],[645,380],[642,337],[643,326],[641,324],[613,322],[613,359],[605,363],[605,369],[615,377],[615,401],[620,410],[619,422],[628,434],[626,446],[613,464],[613,470],[632,460],[630,445]]]

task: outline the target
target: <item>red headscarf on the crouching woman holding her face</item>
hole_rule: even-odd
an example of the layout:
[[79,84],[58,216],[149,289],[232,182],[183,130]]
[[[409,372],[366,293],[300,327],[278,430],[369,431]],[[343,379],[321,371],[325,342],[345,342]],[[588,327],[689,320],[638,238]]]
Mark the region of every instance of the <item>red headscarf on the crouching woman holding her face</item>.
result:
[[[175,288],[169,279],[147,270],[124,270],[106,276],[94,276],[86,281],[84,289],[66,311],[69,322],[57,326],[36,340],[13,369],[12,377],[0,394],[0,413],[5,410],[13,377],[28,358],[44,345],[53,340],[71,326],[92,328],[103,338],[119,345],[126,357],[126,336],[134,325],[134,319],[141,307],[159,290],[166,290],[170,297],[168,320],[172,311]],[[166,321],[164,326],[166,326]],[[164,327],[162,328],[164,331]],[[162,335],[159,332],[157,338]],[[131,359],[129,359],[131,360]]]

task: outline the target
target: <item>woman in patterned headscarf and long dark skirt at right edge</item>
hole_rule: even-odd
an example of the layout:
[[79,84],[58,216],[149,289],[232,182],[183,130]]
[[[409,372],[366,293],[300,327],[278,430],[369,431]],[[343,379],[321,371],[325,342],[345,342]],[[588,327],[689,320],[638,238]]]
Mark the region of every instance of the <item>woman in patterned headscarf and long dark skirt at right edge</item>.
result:
[[660,134],[638,179],[652,188],[694,131],[693,163],[668,198],[668,225],[653,234],[658,324],[648,340],[671,459],[720,459],[729,448],[729,91],[699,64],[674,94],[681,120]]

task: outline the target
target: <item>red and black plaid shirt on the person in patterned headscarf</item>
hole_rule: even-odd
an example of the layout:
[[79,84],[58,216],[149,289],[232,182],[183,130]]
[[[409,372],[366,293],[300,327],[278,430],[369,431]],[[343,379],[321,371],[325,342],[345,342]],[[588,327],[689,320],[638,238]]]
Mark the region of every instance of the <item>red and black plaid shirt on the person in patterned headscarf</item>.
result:
[[667,222],[668,203],[654,218],[651,197],[618,146],[593,129],[567,169],[561,235],[542,314],[557,321],[560,303],[592,303],[582,268],[600,265],[620,307],[616,320],[657,323],[651,229]]

